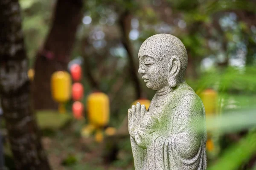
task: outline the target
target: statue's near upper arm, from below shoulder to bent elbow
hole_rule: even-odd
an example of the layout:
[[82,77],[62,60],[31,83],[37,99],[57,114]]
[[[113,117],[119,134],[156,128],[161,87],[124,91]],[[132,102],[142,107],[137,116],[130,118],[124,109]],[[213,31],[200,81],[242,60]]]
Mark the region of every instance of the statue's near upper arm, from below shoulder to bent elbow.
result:
[[184,159],[198,153],[204,138],[204,109],[198,96],[191,94],[180,99],[173,122],[172,144]]

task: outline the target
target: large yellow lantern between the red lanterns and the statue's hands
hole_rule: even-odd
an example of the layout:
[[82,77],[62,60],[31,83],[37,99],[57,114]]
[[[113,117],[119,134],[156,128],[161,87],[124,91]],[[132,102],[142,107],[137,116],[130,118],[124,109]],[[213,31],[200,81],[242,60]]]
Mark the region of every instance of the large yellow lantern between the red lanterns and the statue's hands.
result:
[[94,92],[87,98],[88,119],[90,124],[104,127],[109,121],[109,98],[101,92]]

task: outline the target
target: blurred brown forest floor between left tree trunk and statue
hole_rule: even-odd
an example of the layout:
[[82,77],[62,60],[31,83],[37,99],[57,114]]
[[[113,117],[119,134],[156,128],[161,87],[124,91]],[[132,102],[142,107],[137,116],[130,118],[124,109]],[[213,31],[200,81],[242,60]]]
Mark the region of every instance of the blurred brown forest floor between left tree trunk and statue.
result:
[[[106,162],[105,143],[96,143],[93,136],[82,138],[69,127],[54,136],[44,136],[42,143],[53,170],[132,170],[131,153],[119,150],[118,158]],[[126,155],[128,155],[126,157]]]

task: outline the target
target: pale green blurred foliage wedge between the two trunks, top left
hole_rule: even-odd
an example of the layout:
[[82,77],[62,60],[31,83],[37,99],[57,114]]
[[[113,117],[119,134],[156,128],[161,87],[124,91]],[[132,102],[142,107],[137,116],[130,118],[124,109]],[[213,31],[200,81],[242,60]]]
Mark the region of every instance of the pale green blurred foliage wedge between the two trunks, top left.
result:
[[49,29],[52,1],[20,0],[19,2],[29,67],[32,67],[35,55],[43,44]]

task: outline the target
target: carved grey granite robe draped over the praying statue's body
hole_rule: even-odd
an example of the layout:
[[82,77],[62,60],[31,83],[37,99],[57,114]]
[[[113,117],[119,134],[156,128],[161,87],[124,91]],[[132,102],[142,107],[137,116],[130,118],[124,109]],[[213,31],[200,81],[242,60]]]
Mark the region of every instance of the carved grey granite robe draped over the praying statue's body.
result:
[[169,96],[154,96],[135,127],[131,146],[135,170],[205,170],[205,111],[183,82]]

